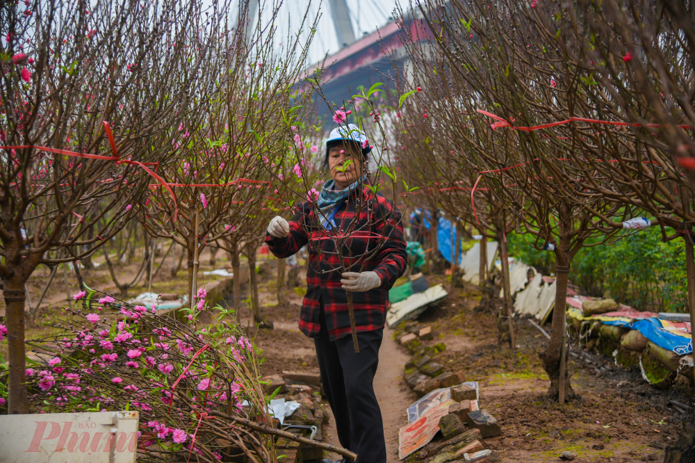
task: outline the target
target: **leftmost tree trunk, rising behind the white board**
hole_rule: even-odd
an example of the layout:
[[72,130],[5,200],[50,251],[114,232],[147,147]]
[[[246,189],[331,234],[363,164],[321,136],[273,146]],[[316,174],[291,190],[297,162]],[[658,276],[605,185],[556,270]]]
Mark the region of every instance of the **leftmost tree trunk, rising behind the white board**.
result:
[[16,270],[13,277],[3,281],[3,297],[8,337],[8,414],[26,414],[29,405],[26,396],[26,378],[24,376],[24,300],[26,300],[26,279],[19,277]]

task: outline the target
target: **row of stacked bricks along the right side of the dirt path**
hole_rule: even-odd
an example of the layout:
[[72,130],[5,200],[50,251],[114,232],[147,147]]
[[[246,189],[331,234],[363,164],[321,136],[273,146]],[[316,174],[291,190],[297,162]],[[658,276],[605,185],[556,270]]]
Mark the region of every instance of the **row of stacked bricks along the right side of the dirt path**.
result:
[[418,398],[436,389],[449,388],[453,400],[448,414],[439,420],[443,441],[428,444],[409,455],[405,462],[497,461],[498,455],[485,448],[484,439],[500,436],[500,425],[487,410],[479,408],[477,389],[471,383],[466,383],[464,372],[445,371],[445,366],[436,362],[436,356],[446,346],[444,343],[427,343],[434,339],[432,327],[403,322],[396,328],[395,336],[411,353],[412,357],[405,365],[404,378]]

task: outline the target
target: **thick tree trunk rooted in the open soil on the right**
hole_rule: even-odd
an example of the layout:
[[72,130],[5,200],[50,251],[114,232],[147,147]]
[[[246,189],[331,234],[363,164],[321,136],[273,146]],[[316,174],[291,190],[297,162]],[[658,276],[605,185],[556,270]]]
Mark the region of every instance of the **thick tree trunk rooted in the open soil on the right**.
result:
[[[553,399],[564,398],[564,400],[569,400],[575,397],[575,392],[573,391],[569,378],[569,369],[564,368],[564,377],[561,377],[560,373],[563,368],[561,368],[562,355],[566,355],[566,349],[563,348],[565,342],[564,331],[566,324],[566,299],[567,299],[567,282],[569,280],[569,268],[571,263],[571,255],[569,254],[569,249],[571,245],[571,235],[573,232],[573,225],[569,213],[564,217],[564,214],[559,214],[558,222],[560,229],[560,239],[558,245],[555,247],[555,306],[553,307],[553,324],[550,329],[550,339],[548,340],[548,348],[546,352],[543,353],[543,368],[548,377],[550,378],[550,389],[548,389],[548,396]],[[562,391],[562,397],[560,394],[560,389]]]

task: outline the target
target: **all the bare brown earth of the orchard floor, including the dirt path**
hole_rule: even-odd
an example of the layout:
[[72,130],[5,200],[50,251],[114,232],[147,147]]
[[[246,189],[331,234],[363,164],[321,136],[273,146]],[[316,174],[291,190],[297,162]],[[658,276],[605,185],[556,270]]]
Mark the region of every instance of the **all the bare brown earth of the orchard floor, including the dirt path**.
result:
[[[95,258],[97,262],[100,260]],[[203,270],[229,266],[222,252],[215,266],[208,265],[206,253],[201,262],[203,283],[216,278],[203,277]],[[172,264],[169,257],[154,279],[153,291],[183,293],[185,263],[176,278],[169,275]],[[117,271],[119,277],[132,278],[137,269],[134,263],[119,266]],[[104,266],[83,270],[83,275],[89,286],[115,292]],[[34,301],[47,276],[48,270],[43,269],[30,279],[28,289]],[[77,290],[74,274],[69,278],[72,294]],[[297,328],[303,284],[286,289],[290,304],[279,307],[275,297],[275,270],[262,273],[259,279],[263,313],[275,323],[275,330],[256,330],[247,308],[240,315],[264,352],[263,375],[284,370],[318,371],[313,341]],[[304,281],[303,277],[300,281]],[[430,286],[443,283],[449,288],[444,277],[427,277],[427,281]],[[136,289],[131,289],[131,297],[146,291],[146,285],[140,282]],[[245,285],[242,298],[247,297],[248,286]],[[434,339],[429,343],[446,344],[446,350],[437,358],[446,371],[461,370],[468,380],[480,382],[481,407],[488,409],[502,425],[502,436],[486,439],[486,444],[498,450],[503,462],[559,462],[558,457],[564,450],[577,455],[575,462],[663,460],[663,448],[678,438],[678,426],[683,418],[670,407],[669,399],[692,403],[692,392],[657,391],[642,380],[639,367],[628,371],[615,366],[612,359],[592,353],[596,366],[605,366],[607,370],[596,373],[594,365],[573,359],[570,364],[572,384],[581,398],[564,405],[553,403],[545,397],[549,382],[537,355],[546,344],[545,337],[522,320],[517,341],[521,348],[511,350],[508,346],[498,346],[496,316],[473,311],[479,299],[480,293],[475,286],[455,289],[442,304],[426,311],[418,321],[432,325]],[[28,330],[30,338],[50,332],[54,318],[60,314],[59,307],[65,302],[62,273],[56,275],[46,301],[47,309],[42,309],[35,326]],[[396,462],[398,429],[406,423],[405,409],[416,397],[402,380],[409,355],[392,339],[392,333],[385,331],[375,391],[384,416],[389,462]],[[329,441],[338,444],[334,429],[331,417],[325,434]],[[441,437],[435,437],[437,439]]]

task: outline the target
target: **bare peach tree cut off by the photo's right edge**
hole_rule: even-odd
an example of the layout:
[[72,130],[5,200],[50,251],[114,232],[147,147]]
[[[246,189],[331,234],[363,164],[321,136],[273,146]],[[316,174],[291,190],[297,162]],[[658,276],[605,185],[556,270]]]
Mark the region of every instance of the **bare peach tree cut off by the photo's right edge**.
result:
[[[582,145],[599,154],[592,168],[624,186],[600,193],[651,216],[641,226],[658,225],[662,241],[684,239],[695,322],[692,6],[640,1],[621,8],[615,1],[582,1],[562,9],[546,6],[541,13],[558,19],[550,27],[539,18],[537,29],[546,36],[557,29],[553,40],[564,61],[594,79],[594,85],[584,85],[582,102],[600,108],[597,118],[622,124],[619,130],[597,129]],[[587,35],[589,42],[580,40]],[[600,189],[592,179],[587,183]]]

